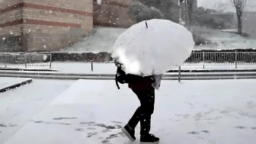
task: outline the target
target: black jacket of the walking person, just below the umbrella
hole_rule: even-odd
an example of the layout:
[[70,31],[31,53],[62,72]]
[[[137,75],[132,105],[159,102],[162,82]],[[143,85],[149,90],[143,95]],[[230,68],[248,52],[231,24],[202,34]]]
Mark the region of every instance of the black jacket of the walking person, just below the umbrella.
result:
[[132,88],[133,90],[151,90],[154,89],[152,87],[152,84],[155,82],[154,76],[136,76],[133,78],[133,82],[130,82],[128,84],[129,88]]

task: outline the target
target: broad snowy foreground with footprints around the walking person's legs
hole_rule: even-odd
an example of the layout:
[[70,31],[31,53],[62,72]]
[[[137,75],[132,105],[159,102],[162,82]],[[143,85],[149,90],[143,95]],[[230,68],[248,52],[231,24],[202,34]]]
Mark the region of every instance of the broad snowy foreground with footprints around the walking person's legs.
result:
[[[0,139],[4,144],[131,143],[121,133],[120,126],[133,115],[139,101],[126,85],[117,90],[114,81],[79,80],[20,126],[17,133],[17,130],[12,131],[15,126],[10,124],[21,123],[24,117],[36,114],[31,108],[38,102],[44,101],[46,105],[45,98],[53,99],[53,94],[49,96],[51,93],[46,89],[52,87],[50,91],[56,94],[58,84],[48,84],[38,83],[33,91],[41,88],[45,92],[40,90],[40,96],[34,93],[35,98],[31,95],[19,107],[16,103],[26,99],[22,98],[21,91],[0,95],[6,99],[1,101],[5,107],[0,104],[1,123],[6,123],[6,127],[0,126]],[[62,85],[62,88],[67,86]],[[254,80],[164,81],[156,92],[151,132],[160,137],[160,144],[252,144],[256,140],[255,87]],[[139,144],[139,125],[136,138],[133,143]]]

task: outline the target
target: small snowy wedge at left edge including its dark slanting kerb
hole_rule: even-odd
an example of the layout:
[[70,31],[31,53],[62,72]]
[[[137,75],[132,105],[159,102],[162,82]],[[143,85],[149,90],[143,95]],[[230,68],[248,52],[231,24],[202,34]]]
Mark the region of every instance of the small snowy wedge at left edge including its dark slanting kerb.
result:
[[18,88],[32,82],[31,78],[5,78],[0,77],[0,93],[9,89]]

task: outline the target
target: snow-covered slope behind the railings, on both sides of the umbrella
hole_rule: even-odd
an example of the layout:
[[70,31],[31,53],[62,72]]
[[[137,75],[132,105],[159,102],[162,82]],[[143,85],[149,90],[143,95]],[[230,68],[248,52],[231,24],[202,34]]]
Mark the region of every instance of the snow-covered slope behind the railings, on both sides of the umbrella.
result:
[[[211,40],[211,44],[205,46],[194,46],[194,50],[221,50],[221,49],[251,49],[256,48],[256,40],[240,37],[237,34],[222,32],[221,30],[199,29],[203,37]],[[91,37],[86,37],[82,42],[60,50],[67,53],[99,53],[111,52],[114,42],[125,28],[95,27]]]

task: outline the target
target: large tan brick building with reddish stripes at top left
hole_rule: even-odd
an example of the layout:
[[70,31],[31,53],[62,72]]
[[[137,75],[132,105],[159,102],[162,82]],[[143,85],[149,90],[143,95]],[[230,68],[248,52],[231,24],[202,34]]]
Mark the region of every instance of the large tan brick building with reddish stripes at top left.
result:
[[[2,7],[9,0],[3,0]],[[13,0],[8,11],[0,12],[2,29],[14,29],[19,36],[19,51],[53,51],[70,46],[91,33],[92,0]],[[17,21],[6,14],[17,12]],[[10,36],[11,37],[11,36]],[[13,51],[10,44],[0,51]]]

